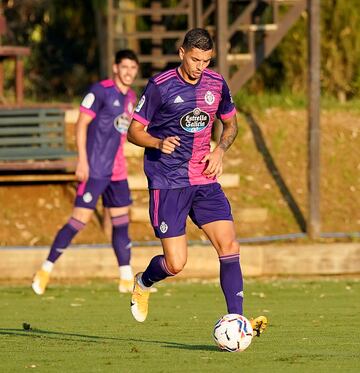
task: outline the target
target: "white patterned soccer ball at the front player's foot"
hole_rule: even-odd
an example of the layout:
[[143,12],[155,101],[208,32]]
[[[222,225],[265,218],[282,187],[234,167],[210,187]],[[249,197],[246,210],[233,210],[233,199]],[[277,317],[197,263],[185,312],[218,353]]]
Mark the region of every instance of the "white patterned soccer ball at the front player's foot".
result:
[[213,336],[220,349],[241,352],[250,346],[253,329],[246,317],[230,313],[216,322]]

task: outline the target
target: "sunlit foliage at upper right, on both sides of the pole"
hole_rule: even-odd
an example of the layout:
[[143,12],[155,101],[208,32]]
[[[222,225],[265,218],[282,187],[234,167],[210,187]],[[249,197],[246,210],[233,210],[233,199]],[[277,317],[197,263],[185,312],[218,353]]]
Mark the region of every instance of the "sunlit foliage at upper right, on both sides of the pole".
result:
[[[321,1],[321,80],[326,94],[360,95],[360,0]],[[247,84],[252,92],[306,92],[307,14],[304,13]]]

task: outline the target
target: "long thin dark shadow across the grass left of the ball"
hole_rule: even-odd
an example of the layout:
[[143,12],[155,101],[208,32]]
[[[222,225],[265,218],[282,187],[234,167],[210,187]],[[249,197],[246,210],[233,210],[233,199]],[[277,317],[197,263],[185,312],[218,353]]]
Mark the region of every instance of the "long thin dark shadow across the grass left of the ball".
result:
[[157,341],[151,339],[135,339],[135,338],[119,338],[119,337],[104,337],[98,335],[78,334],[78,333],[64,333],[41,329],[10,329],[0,328],[0,335],[27,337],[27,338],[47,338],[61,341],[72,341],[82,343],[104,343],[106,341],[119,341],[119,342],[134,342],[134,343],[153,343],[161,344],[161,347],[174,348],[182,350],[201,350],[201,351],[217,351],[216,346],[211,345],[192,345],[170,341]]

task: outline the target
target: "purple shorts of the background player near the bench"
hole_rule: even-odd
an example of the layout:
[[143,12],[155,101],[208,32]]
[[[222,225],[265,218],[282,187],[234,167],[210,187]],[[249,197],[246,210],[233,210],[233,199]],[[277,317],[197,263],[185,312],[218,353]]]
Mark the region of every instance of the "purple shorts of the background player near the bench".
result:
[[101,195],[105,207],[125,207],[132,202],[127,180],[89,178],[86,183],[79,183],[75,206],[94,210]]

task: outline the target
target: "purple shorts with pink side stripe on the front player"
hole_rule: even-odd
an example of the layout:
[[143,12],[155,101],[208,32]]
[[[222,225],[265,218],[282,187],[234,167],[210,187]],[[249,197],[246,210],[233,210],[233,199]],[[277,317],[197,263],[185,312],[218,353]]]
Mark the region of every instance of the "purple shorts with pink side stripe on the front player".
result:
[[218,220],[233,220],[229,201],[218,183],[149,192],[150,220],[158,238],[185,234],[188,216],[199,228]]

